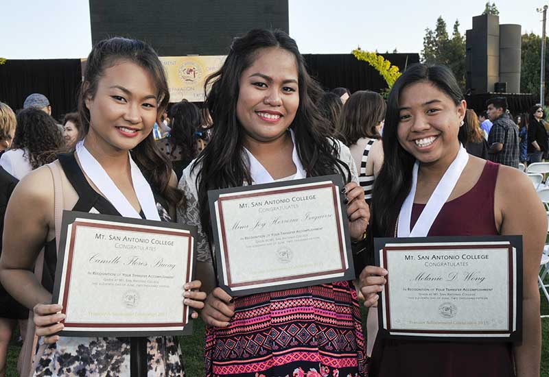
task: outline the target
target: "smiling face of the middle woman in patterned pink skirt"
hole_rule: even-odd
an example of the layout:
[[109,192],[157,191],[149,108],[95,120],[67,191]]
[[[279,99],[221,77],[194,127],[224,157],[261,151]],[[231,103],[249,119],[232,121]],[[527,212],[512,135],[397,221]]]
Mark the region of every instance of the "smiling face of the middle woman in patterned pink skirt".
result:
[[299,107],[295,56],[278,47],[261,49],[242,72],[236,114],[248,141],[266,143],[285,134]]

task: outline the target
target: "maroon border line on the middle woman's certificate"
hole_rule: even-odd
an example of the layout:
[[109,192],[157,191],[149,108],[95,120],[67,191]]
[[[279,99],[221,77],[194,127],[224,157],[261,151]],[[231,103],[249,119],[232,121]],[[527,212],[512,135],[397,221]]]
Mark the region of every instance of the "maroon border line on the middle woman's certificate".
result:
[[316,190],[316,189],[324,189],[327,187],[331,187],[332,189],[332,197],[334,200],[334,212],[336,212],[336,226],[338,228],[338,241],[339,241],[339,248],[340,248],[340,258],[341,258],[341,266],[340,269],[334,269],[331,271],[322,271],[323,275],[329,275],[331,273],[338,273],[338,272],[344,272],[347,269],[345,268],[345,249],[343,245],[343,237],[342,237],[342,229],[341,229],[341,218],[340,218],[340,211],[338,208],[338,192],[336,191],[336,185],[333,182],[329,183],[323,183],[323,184],[315,184],[314,186],[307,186],[307,187],[288,187],[278,190],[270,190],[270,191],[264,191],[261,193],[257,192],[250,192],[250,193],[241,193],[241,194],[235,194],[230,196],[220,196],[218,199],[218,208],[219,208],[219,222],[220,222],[220,228],[221,228],[221,241],[223,243],[223,254],[225,256],[225,271],[227,276],[227,287],[233,289],[237,287],[248,287],[252,285],[257,284],[266,284],[270,282],[281,282],[281,281],[287,281],[287,280],[295,280],[295,279],[302,279],[302,278],[310,278],[312,276],[318,276],[318,272],[316,273],[304,273],[302,275],[295,275],[295,276],[284,276],[281,278],[272,278],[272,279],[264,279],[264,280],[253,280],[250,282],[240,282],[240,283],[233,283],[231,280],[231,268],[230,268],[230,260],[229,260],[229,247],[227,246],[226,241],[226,233],[225,233],[225,221],[223,216],[223,202],[234,200],[234,199],[242,199],[245,197],[260,197],[260,196],[269,196],[273,194],[280,194],[280,193],[292,193],[292,192],[301,192],[301,191],[309,191],[309,190]]

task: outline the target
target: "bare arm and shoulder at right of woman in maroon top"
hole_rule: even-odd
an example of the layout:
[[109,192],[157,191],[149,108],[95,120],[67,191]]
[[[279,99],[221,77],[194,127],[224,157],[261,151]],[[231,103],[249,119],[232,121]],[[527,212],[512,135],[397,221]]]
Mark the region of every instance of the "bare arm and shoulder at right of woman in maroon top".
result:
[[[516,195],[521,193],[521,195]],[[495,215],[501,234],[522,234],[524,261],[522,343],[513,348],[517,376],[539,376],[541,322],[537,273],[547,234],[543,204],[530,180],[516,169],[500,167],[495,189]]]

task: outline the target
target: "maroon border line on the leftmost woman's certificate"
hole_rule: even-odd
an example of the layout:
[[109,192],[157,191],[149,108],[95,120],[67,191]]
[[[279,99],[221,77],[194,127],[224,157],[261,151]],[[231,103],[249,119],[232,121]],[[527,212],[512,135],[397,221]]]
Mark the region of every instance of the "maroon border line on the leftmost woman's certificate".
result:
[[[69,243],[69,256],[67,260],[67,269],[65,271],[65,287],[63,287],[63,308],[61,313],[67,315],[67,303],[69,301],[69,287],[71,283],[71,272],[73,267],[73,254],[74,254],[74,244],[76,239],[76,230],[78,227],[86,227],[86,228],[102,228],[102,229],[115,229],[115,230],[128,230],[132,232],[144,232],[144,233],[153,233],[153,234],[168,234],[171,236],[181,236],[181,237],[187,237],[189,242],[189,252],[187,253],[187,274],[185,276],[185,282],[189,281],[189,278],[191,276],[191,248],[192,248],[192,235],[189,234],[182,234],[182,232],[174,232],[170,230],[156,230],[151,228],[141,228],[137,226],[119,226],[114,224],[108,224],[108,223],[93,223],[90,221],[74,221],[71,224],[71,241]],[[62,321],[63,324],[65,324],[64,330],[71,330],[71,328],[182,328],[187,324],[187,305],[183,305],[183,321],[181,322],[160,322],[160,323],[139,323],[139,324],[132,324],[130,322],[116,322],[116,323],[75,323],[75,322],[67,322],[66,319]]]

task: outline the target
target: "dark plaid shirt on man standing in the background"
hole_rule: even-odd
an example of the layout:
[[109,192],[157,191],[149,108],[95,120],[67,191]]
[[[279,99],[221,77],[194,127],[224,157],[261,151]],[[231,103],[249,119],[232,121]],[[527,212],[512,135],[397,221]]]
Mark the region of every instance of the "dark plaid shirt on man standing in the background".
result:
[[502,114],[493,121],[488,145],[502,143],[503,149],[497,153],[489,153],[488,159],[498,164],[519,167],[519,127],[511,120],[509,114]]

